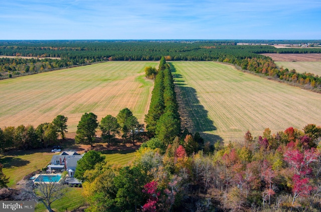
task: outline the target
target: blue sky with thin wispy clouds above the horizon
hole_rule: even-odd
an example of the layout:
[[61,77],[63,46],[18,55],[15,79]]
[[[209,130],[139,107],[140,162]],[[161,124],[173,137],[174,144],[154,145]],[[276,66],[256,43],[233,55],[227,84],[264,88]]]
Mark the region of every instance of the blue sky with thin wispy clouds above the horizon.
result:
[[2,0],[1,39],[321,39],[321,0]]

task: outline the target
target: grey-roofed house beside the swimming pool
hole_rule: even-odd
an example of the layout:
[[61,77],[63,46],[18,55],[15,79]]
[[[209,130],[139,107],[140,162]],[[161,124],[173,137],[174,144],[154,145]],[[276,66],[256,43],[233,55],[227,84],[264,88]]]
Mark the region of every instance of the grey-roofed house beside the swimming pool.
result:
[[51,164],[48,165],[49,171],[67,170],[69,176],[74,176],[77,161],[82,158],[83,154],[78,154],[75,151],[63,151],[59,155],[53,155]]

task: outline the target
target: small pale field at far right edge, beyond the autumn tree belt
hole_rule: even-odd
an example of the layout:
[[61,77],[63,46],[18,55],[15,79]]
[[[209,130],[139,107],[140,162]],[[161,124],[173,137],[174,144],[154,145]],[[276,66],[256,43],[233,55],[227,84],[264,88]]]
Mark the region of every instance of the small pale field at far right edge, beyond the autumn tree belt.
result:
[[299,73],[307,72],[321,75],[321,61],[306,61],[306,62],[289,62],[289,61],[275,61],[279,67],[295,69]]

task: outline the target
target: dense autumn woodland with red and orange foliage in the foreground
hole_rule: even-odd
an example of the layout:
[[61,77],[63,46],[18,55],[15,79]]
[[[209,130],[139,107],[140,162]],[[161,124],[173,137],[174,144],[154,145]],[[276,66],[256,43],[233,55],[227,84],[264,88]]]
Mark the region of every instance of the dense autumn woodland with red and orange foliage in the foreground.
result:
[[321,127],[266,128],[198,151],[196,136],[145,142],[131,166],[85,171],[88,211],[319,211]]

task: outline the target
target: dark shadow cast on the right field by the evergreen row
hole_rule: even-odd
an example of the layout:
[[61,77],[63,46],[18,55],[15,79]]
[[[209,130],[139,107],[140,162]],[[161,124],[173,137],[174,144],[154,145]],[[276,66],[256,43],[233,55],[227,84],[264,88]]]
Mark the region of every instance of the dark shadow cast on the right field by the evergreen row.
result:
[[211,143],[215,143],[217,140],[223,141],[219,135],[204,132],[217,129],[214,122],[208,117],[208,110],[200,103],[197,90],[186,86],[188,84],[184,83],[183,75],[176,73],[175,66],[170,62],[169,64],[177,87],[182,127],[186,126],[192,132],[200,132],[200,135]]

